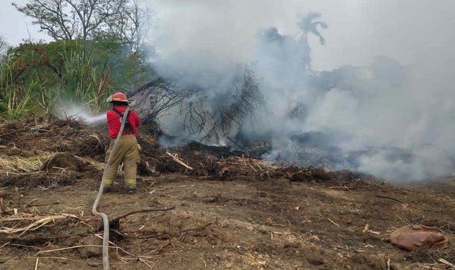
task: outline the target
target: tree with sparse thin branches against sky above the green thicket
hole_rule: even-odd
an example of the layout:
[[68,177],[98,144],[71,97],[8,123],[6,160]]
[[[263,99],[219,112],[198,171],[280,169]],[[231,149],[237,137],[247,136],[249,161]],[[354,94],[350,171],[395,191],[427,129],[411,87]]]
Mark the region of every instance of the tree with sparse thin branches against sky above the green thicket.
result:
[[114,37],[132,50],[145,42],[151,12],[138,0],[28,0],[12,4],[54,39]]

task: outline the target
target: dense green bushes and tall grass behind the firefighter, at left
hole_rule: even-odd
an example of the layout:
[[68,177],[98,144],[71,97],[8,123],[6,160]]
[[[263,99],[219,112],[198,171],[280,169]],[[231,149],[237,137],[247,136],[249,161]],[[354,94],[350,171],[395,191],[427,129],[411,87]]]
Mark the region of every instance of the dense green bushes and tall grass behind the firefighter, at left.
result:
[[99,112],[111,93],[153,73],[145,59],[110,40],[21,44],[0,65],[0,114],[48,114],[63,102]]

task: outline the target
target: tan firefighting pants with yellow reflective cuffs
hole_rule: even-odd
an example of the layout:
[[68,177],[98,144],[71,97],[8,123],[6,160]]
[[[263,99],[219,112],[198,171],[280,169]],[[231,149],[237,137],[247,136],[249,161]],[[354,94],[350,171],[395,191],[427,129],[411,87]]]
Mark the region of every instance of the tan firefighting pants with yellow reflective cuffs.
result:
[[[109,155],[114,148],[115,140],[112,140],[109,149],[106,152],[105,162],[107,162]],[[136,169],[140,161],[140,154],[138,149],[138,141],[134,135],[125,135],[120,138],[117,150],[112,157],[111,164],[106,174],[106,181],[104,186],[110,187],[114,183],[115,175],[117,174],[118,165],[123,162],[125,170],[125,185],[127,187],[136,187]]]

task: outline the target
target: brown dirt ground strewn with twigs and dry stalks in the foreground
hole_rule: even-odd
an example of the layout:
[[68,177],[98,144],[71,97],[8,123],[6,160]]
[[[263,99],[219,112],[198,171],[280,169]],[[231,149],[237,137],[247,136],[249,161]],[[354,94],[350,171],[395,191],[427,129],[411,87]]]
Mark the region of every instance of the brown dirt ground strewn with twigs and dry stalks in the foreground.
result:
[[[1,269],[102,268],[101,222],[91,212],[107,142],[103,129],[70,119],[0,123]],[[99,209],[110,218],[175,209],[121,218],[110,233],[111,269],[450,269],[440,259],[455,263],[455,178],[394,186],[347,171],[175,150],[194,167],[188,170],[152,138],[140,143],[144,160],[161,175],[143,173],[138,192],[129,195],[120,173]],[[407,224],[440,228],[449,247],[408,252],[391,245],[389,234]]]

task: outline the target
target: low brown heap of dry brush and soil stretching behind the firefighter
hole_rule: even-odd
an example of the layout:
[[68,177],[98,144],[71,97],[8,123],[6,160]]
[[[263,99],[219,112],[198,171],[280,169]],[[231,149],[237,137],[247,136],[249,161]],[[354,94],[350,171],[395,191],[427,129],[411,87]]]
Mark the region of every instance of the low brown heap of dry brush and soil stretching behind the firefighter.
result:
[[[16,186],[54,187],[71,184],[87,176],[93,178],[94,184],[99,180],[109,143],[102,127],[87,126],[71,118],[55,118],[3,122],[1,128],[2,186],[14,183]],[[265,142],[241,146],[231,140],[235,145],[230,147],[192,141],[163,149],[155,138],[145,134],[139,137],[138,142],[141,145],[138,171],[143,176],[183,173],[200,179],[224,181],[239,177],[261,180],[282,177],[296,182],[360,177],[360,174],[332,172],[325,167],[277,166],[274,162],[260,159],[267,151]]]

